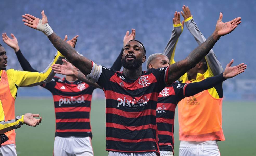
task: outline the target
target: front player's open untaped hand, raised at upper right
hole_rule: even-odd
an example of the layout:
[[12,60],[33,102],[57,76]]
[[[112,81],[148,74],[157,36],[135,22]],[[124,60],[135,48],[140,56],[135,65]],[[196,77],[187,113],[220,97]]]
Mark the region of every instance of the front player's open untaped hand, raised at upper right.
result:
[[216,24],[216,31],[218,33],[219,36],[224,36],[226,34],[231,33],[231,31],[235,30],[235,28],[238,26],[238,24],[240,24],[242,21],[241,17],[237,17],[229,22],[222,22],[222,13],[220,13],[220,17],[219,20],[217,21]]

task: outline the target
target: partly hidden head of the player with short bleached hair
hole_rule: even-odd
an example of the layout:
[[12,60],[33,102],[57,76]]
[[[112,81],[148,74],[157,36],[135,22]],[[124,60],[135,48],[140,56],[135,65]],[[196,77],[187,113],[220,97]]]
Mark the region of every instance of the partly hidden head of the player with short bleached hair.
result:
[[157,55],[157,57],[151,61],[149,68],[161,68],[170,66],[170,60],[164,55]]

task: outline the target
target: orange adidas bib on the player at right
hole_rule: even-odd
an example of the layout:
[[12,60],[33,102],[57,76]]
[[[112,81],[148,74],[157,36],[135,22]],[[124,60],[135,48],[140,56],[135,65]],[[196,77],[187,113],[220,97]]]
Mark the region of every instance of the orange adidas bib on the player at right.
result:
[[225,140],[222,130],[222,98],[204,90],[178,104],[179,135],[182,141]]

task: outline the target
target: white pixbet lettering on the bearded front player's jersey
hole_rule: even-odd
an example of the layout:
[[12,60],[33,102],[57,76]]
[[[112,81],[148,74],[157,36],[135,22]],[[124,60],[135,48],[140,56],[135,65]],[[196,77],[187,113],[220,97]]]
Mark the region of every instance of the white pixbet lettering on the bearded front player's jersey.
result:
[[148,104],[149,99],[144,96],[144,99],[140,99],[140,100],[135,100],[134,98],[132,100],[128,100],[126,99],[126,97],[124,97],[123,99],[121,98],[117,98],[117,107],[119,107],[120,105],[126,106],[126,107],[137,107],[139,106],[144,106],[145,104]]

